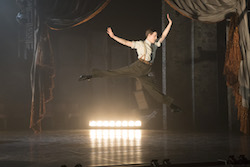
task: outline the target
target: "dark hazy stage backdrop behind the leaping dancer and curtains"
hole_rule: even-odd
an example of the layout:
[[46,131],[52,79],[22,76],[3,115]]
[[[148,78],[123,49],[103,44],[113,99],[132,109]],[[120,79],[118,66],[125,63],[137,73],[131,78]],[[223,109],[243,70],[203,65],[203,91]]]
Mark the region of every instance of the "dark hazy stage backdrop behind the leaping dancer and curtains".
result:
[[[54,99],[47,104],[44,129],[86,128],[90,119],[133,119],[158,111],[147,128],[162,128],[161,105],[146,95],[148,110],[140,110],[133,79],[96,79],[78,82],[82,73],[92,68],[113,69],[137,59],[135,50],[108,37],[106,28],[128,40],[144,39],[147,28],[161,34],[160,0],[113,0],[96,17],[69,30],[50,30],[55,55]],[[182,113],[168,113],[168,128],[188,130],[227,129],[227,92],[222,75],[226,23],[194,22],[194,90],[192,90],[191,20],[166,5],[173,20],[167,37],[167,92],[183,108]],[[14,0],[0,0],[0,128],[29,127],[31,104],[30,67],[32,55],[18,56],[16,22],[18,6]],[[158,49],[153,71],[161,85],[161,53]],[[195,92],[192,98],[192,92]],[[193,114],[195,101],[195,115]],[[236,113],[234,113],[236,115]],[[238,127],[234,116],[234,127]],[[238,128],[235,128],[238,129]]]

